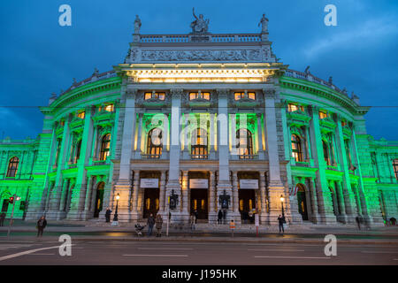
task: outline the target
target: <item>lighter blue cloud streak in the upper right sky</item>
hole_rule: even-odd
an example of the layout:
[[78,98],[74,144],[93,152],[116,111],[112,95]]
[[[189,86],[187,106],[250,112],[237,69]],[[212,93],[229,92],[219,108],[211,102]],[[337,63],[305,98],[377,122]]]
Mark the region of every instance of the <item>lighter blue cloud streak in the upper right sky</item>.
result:
[[[319,39],[311,42],[309,47],[302,50],[307,58],[318,57],[320,54],[341,47],[366,47],[370,43],[380,43],[380,40],[388,36],[398,34],[396,15],[379,19],[368,19],[356,27],[345,29],[340,33],[333,34],[328,38]],[[329,27],[333,28],[333,27]]]

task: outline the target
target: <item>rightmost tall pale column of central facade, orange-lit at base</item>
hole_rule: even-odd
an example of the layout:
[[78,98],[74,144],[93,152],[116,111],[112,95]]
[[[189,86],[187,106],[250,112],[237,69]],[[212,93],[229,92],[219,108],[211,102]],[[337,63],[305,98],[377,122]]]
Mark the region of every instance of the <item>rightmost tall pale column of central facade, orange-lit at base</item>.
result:
[[277,223],[278,216],[281,213],[282,206],[280,203],[280,195],[283,195],[286,202],[285,206],[285,217],[290,217],[290,209],[288,207],[288,193],[285,192],[285,187],[280,180],[279,170],[279,148],[278,148],[278,131],[277,131],[277,119],[275,112],[275,98],[276,92],[274,89],[264,88],[265,97],[265,128],[266,128],[266,142],[267,152],[269,160],[269,172],[270,180],[268,184],[268,197],[269,197],[269,208],[270,208],[270,223]]

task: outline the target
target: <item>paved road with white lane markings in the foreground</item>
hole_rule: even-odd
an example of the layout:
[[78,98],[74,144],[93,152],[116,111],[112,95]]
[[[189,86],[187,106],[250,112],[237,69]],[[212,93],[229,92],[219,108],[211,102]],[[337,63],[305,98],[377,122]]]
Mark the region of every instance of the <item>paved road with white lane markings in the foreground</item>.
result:
[[6,264],[381,264],[398,265],[398,247],[338,245],[325,256],[324,245],[186,241],[73,241],[72,256],[59,256],[58,241],[0,241]]

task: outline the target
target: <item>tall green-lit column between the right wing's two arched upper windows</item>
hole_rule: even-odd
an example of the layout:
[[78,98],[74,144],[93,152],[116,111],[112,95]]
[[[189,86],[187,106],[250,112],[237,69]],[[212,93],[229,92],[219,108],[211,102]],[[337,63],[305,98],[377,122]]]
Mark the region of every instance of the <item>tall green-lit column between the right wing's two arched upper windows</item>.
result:
[[321,223],[334,224],[336,217],[333,214],[333,200],[329,187],[326,181],[326,162],[324,157],[324,150],[322,146],[322,134],[319,126],[319,114],[316,106],[311,107],[310,120],[310,141],[313,143],[311,148],[314,149],[314,165],[318,167],[317,171],[317,199],[318,199],[318,213]]

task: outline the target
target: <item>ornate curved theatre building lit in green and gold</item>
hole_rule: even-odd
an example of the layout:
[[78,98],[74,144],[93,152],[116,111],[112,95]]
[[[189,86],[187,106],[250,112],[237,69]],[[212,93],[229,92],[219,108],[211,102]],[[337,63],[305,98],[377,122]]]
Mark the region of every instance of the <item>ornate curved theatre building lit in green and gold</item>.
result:
[[[141,34],[126,59],[40,107],[34,140],[0,142],[2,211],[16,218],[371,226],[398,217],[398,142],[332,79],[289,69],[258,34]],[[327,64],[325,63],[325,66]],[[377,97],[377,96],[375,96]]]

